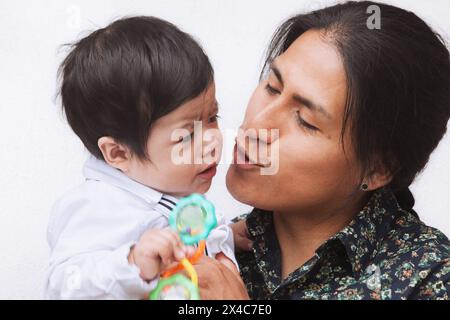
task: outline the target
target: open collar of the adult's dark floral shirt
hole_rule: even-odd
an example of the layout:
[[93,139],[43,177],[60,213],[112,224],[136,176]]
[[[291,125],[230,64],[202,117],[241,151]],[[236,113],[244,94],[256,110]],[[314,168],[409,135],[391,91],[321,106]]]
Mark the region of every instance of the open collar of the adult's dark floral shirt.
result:
[[[336,250],[336,244],[341,244],[347,254],[345,260],[351,264],[354,274],[360,275],[379,250],[380,240],[392,230],[399,209],[399,203],[389,187],[374,191],[355,218],[316,250],[316,256],[320,258],[327,250]],[[271,270],[263,274],[273,290],[281,280],[281,250],[273,227],[272,212],[255,208],[247,216],[246,223],[254,241],[256,261],[263,261],[261,267]]]

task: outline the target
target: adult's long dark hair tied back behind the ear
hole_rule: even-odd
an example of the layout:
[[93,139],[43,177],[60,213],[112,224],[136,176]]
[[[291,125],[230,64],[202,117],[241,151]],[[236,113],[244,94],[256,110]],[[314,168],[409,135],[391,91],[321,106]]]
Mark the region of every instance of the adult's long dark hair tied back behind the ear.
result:
[[[367,25],[372,5],[379,8],[379,29]],[[450,117],[450,61],[444,41],[412,12],[371,1],[346,2],[284,22],[271,41],[261,76],[311,29],[337,48],[346,71],[341,140],[351,130],[362,176],[383,165],[392,174],[390,187],[401,206],[412,208],[408,187],[442,139]]]

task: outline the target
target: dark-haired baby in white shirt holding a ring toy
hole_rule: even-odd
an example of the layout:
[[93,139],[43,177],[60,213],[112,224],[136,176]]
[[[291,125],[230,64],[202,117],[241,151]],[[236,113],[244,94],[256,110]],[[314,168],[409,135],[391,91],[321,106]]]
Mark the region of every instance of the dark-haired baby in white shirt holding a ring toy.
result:
[[[91,157],[85,181],[53,207],[46,297],[143,299],[194,251],[168,215],[180,197],[205,193],[216,173],[213,69],[174,25],[132,17],[74,44],[60,75],[68,123]],[[206,253],[237,266],[222,216]]]

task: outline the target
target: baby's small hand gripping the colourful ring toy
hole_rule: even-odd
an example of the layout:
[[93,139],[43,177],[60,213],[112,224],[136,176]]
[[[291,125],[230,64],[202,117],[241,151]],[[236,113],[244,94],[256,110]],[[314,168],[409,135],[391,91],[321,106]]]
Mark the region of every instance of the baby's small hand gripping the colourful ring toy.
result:
[[177,261],[192,256],[194,250],[185,246],[172,229],[151,229],[132,247],[128,261],[139,267],[142,279],[149,281]]

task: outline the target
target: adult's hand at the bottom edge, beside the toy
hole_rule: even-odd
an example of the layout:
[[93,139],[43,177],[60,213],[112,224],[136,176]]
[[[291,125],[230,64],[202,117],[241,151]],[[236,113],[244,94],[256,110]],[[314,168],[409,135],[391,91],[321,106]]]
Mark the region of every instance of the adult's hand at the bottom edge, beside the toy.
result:
[[247,289],[233,267],[203,256],[194,265],[202,300],[249,300]]

